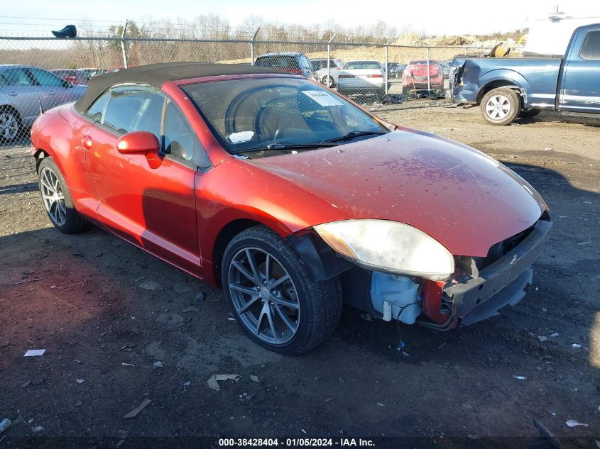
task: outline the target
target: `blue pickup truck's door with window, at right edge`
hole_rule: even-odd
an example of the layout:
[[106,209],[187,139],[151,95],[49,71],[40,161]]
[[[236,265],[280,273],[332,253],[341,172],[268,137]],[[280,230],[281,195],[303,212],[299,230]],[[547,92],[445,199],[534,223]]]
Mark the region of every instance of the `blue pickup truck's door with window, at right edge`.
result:
[[579,31],[562,73],[560,109],[600,112],[600,29]]

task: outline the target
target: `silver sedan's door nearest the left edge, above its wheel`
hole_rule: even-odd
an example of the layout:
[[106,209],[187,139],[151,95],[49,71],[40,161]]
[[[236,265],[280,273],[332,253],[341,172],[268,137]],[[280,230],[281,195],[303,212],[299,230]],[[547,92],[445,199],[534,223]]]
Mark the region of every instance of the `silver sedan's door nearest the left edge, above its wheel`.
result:
[[38,89],[25,69],[19,67],[0,72],[0,89],[18,111],[24,126],[31,126],[40,115]]

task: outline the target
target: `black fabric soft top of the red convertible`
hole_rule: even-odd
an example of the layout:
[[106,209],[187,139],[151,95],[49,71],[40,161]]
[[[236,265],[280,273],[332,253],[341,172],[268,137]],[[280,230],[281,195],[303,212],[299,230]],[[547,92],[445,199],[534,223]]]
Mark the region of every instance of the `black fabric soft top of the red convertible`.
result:
[[92,103],[115,84],[138,83],[160,89],[167,81],[178,81],[198,77],[218,75],[238,75],[253,73],[284,73],[266,67],[245,64],[202,64],[200,62],[163,62],[161,64],[141,65],[119,72],[105,73],[89,81],[87,92],[77,103],[75,109],[84,113]]

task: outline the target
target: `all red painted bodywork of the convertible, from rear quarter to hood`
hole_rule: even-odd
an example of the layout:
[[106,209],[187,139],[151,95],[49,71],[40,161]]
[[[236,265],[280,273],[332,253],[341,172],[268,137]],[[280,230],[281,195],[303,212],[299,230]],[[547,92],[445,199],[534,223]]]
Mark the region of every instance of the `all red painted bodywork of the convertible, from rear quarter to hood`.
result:
[[[208,170],[156,154],[121,154],[114,133],[70,104],[36,120],[32,153],[53,157],[75,208],[89,220],[212,284],[219,283],[219,233],[240,220],[263,223],[284,238],[329,221],[400,221],[454,255],[485,256],[491,245],[528,228],[547,209],[527,182],[499,162],[408,128],[336,148],[240,159],[222,148],[180,89],[193,82],[288,76],[163,84],[206,150]],[[441,286],[425,282],[423,300],[425,313],[439,323],[445,319],[439,313]]]

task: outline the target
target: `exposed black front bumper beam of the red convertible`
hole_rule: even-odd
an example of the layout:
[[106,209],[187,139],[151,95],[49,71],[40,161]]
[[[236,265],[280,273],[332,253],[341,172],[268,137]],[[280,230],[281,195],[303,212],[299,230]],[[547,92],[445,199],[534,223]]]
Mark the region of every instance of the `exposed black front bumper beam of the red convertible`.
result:
[[531,265],[545,248],[550,228],[552,221],[540,218],[521,243],[479,271],[479,276],[447,282],[442,290],[442,304],[450,308],[449,321],[476,323],[523,299],[523,289],[533,275]]

